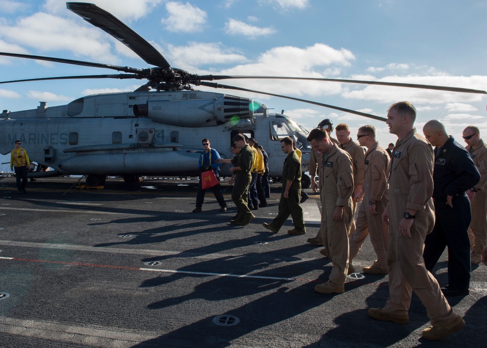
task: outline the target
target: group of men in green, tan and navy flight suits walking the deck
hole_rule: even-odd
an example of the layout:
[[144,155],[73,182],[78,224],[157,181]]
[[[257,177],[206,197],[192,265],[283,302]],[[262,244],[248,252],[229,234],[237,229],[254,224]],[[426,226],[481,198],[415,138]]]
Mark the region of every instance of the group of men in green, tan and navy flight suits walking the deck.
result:
[[[371,308],[368,315],[408,323],[414,291],[431,320],[423,337],[439,340],[465,325],[445,296],[468,295],[471,264],[487,264],[487,147],[476,126],[463,131],[465,148],[437,120],[425,124],[423,137],[414,128],[415,119],[411,103],[390,106],[386,123],[397,142],[388,149],[379,146],[372,125],[358,128],[358,144],[345,123],[336,126],[337,139],[332,138],[333,122],[328,119],[309,133],[309,174],[311,188],[320,192],[321,224],[308,242],[324,246],[320,253],[333,264],[328,281],[316,285],[315,291],[340,294],[347,275],[356,272],[353,260],[370,235],[377,259],[362,272],[389,274],[390,296],[383,308]],[[255,217],[251,209],[256,201],[247,193],[254,180],[254,144],[254,139],[247,142],[238,134],[232,144],[235,157],[215,160],[218,165],[233,164],[232,200],[238,214],[230,224],[245,226]],[[290,215],[294,228],[287,233],[306,233],[300,156],[295,148],[292,138],[281,139],[287,157],[279,212],[271,223],[263,224],[271,233],[279,232]],[[431,272],[446,247],[448,284],[441,287]]]

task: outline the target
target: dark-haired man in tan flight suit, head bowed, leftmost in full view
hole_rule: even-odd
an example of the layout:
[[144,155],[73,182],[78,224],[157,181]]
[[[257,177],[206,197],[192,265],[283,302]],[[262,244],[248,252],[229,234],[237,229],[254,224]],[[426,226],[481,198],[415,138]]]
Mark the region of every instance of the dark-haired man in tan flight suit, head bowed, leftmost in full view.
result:
[[319,181],[323,185],[321,195],[321,226],[323,244],[333,263],[326,283],[315,286],[323,294],[343,293],[348,271],[348,231],[352,215],[354,174],[352,158],[330,140],[328,133],[313,129],[306,138],[318,154],[323,154]]

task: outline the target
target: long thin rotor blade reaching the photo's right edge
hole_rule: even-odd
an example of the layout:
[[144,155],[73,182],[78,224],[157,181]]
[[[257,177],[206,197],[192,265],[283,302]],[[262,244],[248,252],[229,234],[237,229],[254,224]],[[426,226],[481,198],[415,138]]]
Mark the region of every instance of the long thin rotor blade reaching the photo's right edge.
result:
[[392,86],[392,87],[409,87],[409,88],[423,88],[433,90],[444,90],[449,92],[460,93],[478,93],[487,94],[487,91],[481,89],[470,89],[460,87],[446,87],[446,86],[433,86],[433,85],[421,85],[421,84],[408,84],[408,83],[395,83],[395,82],[382,82],[382,81],[365,81],[365,80],[346,80],[346,79],[327,79],[327,78],[315,78],[315,77],[291,77],[291,76],[242,76],[242,75],[200,75],[201,80],[226,80],[226,79],[272,79],[272,80],[305,80],[305,81],[327,81],[327,82],[342,82],[352,84],[364,84],[364,85],[379,85],[379,86]]

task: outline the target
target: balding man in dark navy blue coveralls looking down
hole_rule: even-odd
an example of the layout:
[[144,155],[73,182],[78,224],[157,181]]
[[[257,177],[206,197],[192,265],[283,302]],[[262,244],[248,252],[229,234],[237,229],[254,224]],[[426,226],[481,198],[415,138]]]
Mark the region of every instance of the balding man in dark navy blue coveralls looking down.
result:
[[426,236],[423,258],[431,272],[448,246],[448,285],[445,296],[465,296],[470,288],[470,201],[465,193],[480,180],[468,151],[437,121],[426,122],[425,138],[434,148],[433,200],[435,224]]

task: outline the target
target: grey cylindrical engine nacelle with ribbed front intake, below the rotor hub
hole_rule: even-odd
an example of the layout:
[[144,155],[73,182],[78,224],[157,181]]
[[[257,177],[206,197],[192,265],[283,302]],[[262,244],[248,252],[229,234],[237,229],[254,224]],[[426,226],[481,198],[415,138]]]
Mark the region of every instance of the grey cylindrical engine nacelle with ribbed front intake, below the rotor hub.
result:
[[224,94],[213,99],[148,101],[133,105],[133,114],[176,126],[213,126],[252,118],[253,104],[251,99]]

